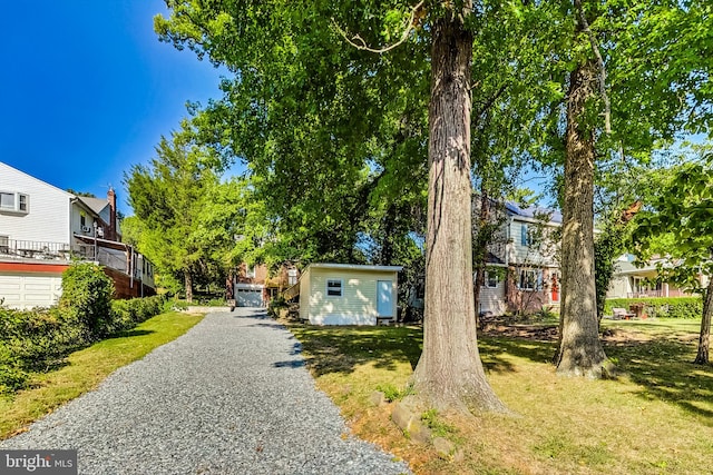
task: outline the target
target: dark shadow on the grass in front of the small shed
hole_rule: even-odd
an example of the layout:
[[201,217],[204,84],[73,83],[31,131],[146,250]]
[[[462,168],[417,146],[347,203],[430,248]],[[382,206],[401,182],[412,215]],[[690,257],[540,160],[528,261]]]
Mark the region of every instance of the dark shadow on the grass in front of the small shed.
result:
[[319,376],[349,374],[367,363],[380,369],[395,369],[401,363],[414,368],[421,356],[423,337],[418,327],[315,327],[291,324],[289,328],[302,343],[304,358]]

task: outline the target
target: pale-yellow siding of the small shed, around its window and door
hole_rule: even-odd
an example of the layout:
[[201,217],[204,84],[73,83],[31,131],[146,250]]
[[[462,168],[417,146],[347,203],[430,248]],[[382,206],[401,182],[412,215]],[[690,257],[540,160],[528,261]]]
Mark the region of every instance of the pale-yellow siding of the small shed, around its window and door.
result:
[[[300,296],[300,314],[316,325],[375,325],[377,281],[393,283],[393,311],[397,315],[397,273],[359,269],[310,268],[302,277],[309,280],[309,294]],[[328,279],[342,280],[342,296],[328,296]]]

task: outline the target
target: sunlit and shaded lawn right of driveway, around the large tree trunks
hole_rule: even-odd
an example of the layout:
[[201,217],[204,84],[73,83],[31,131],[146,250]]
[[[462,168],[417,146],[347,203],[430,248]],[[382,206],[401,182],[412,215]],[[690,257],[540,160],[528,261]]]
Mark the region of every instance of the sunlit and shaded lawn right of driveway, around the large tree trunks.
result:
[[[404,390],[418,362],[417,327],[291,325],[319,387],[352,431],[421,474],[699,474],[713,459],[713,367],[695,366],[695,320],[604,321],[607,355],[626,376],[564,378],[549,363],[555,342],[479,335],[488,379],[517,416],[423,419],[462,451],[441,458],[374,407],[378,387]],[[711,472],[709,472],[711,473]]]

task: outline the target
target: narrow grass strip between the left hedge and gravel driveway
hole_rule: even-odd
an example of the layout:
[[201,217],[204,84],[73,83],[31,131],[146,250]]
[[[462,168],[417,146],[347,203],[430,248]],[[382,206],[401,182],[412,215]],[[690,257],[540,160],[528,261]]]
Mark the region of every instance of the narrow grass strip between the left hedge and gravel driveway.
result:
[[28,389],[0,399],[0,439],[26,431],[32,420],[96,388],[115,369],[176,339],[202,318],[175,311],[158,315],[131,330],[72,353],[56,370],[32,375]]

